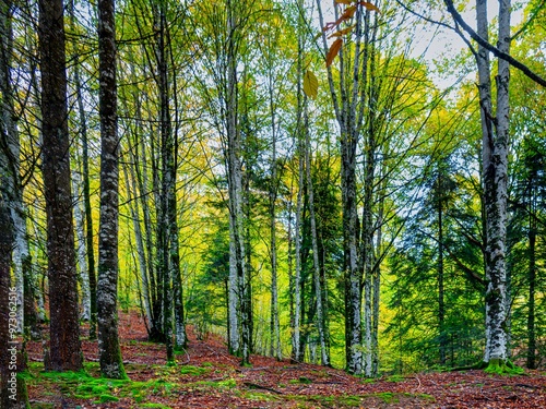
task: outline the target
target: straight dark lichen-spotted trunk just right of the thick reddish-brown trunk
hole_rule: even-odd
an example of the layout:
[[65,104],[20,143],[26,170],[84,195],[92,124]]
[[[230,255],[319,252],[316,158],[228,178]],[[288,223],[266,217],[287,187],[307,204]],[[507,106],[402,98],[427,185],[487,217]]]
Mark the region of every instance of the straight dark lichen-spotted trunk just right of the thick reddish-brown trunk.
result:
[[100,220],[98,230],[98,356],[105,377],[126,378],[118,336],[119,137],[114,0],[98,1]]

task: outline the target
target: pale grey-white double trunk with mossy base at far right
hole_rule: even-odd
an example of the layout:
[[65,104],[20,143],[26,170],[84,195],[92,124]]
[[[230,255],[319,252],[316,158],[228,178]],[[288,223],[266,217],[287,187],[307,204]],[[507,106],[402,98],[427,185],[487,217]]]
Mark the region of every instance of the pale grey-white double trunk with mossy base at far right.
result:
[[[476,3],[477,31],[488,38],[487,2]],[[498,48],[508,52],[510,47],[510,2],[500,1]],[[476,56],[479,76],[482,117],[482,158],[484,208],[486,220],[485,279],[486,348],[484,361],[496,366],[507,360],[506,332],[506,220],[508,183],[508,128],[509,128],[509,64],[498,60],[497,116],[492,121],[491,84],[488,51],[482,46]],[[496,133],[494,132],[496,124]]]

